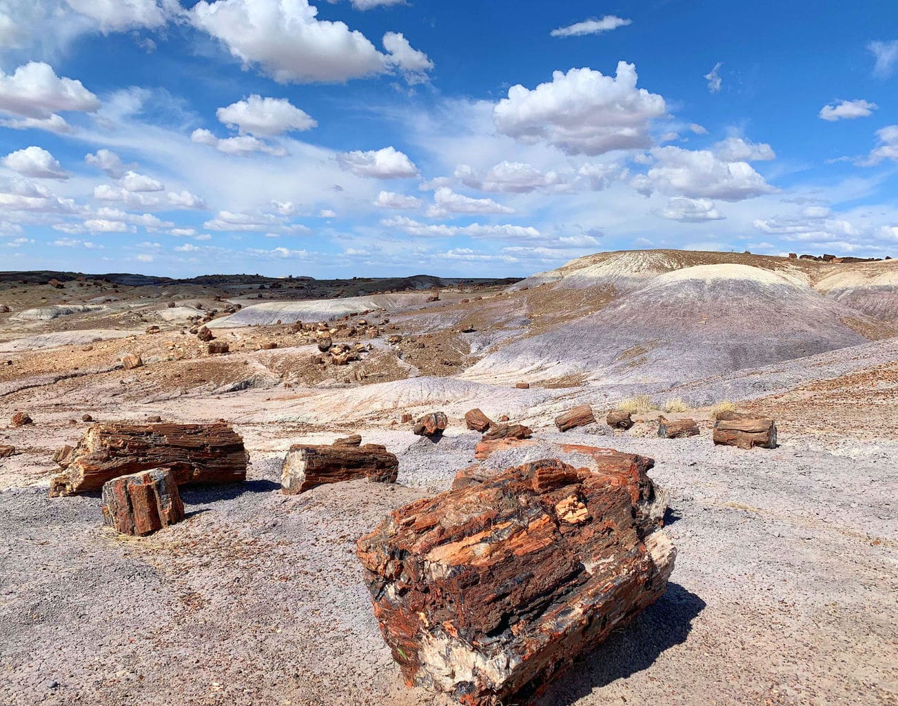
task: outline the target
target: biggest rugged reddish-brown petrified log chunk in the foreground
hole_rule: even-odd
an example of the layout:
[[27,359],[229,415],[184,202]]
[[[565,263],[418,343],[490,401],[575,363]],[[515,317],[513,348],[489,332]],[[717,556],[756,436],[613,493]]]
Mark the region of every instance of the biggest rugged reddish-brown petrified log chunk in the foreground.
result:
[[675,550],[626,485],[557,459],[401,507],[357,543],[406,684],[524,701],[665,592]]

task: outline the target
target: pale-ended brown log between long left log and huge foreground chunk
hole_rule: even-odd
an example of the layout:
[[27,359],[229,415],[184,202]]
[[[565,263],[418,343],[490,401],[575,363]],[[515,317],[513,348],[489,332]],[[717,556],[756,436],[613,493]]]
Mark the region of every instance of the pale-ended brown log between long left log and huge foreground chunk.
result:
[[394,483],[399,460],[379,444],[365,446],[290,446],[281,466],[281,492],[296,495],[324,483],[369,481]]

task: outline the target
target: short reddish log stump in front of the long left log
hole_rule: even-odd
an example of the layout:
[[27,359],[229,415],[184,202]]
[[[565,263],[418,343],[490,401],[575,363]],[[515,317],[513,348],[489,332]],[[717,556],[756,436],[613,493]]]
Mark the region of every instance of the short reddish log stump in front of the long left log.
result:
[[184,519],[175,474],[154,468],[103,483],[103,520],[121,534],[143,536]]

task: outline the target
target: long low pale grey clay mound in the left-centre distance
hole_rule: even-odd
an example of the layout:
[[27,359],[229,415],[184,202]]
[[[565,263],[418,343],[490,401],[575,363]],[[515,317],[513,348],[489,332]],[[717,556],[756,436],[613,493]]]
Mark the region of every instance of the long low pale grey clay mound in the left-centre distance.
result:
[[409,307],[423,306],[426,302],[427,293],[347,296],[340,299],[312,299],[304,302],[264,302],[244,306],[239,312],[209,322],[207,326],[213,329],[265,325],[278,321],[322,322],[376,309],[388,312],[401,311]]

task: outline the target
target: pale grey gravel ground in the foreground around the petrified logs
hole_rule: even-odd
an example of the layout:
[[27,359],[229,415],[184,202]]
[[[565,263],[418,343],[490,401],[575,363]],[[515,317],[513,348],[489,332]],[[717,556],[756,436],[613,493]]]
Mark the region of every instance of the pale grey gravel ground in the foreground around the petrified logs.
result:
[[[654,456],[679,552],[665,597],[542,704],[898,702],[894,441],[541,436]],[[96,497],[0,493],[0,700],[448,703],[401,684],[353,550],[445,487],[478,436],[381,440],[400,485],[287,498],[279,455],[255,454],[242,487],[184,490],[188,520],[140,540],[101,527]]]

